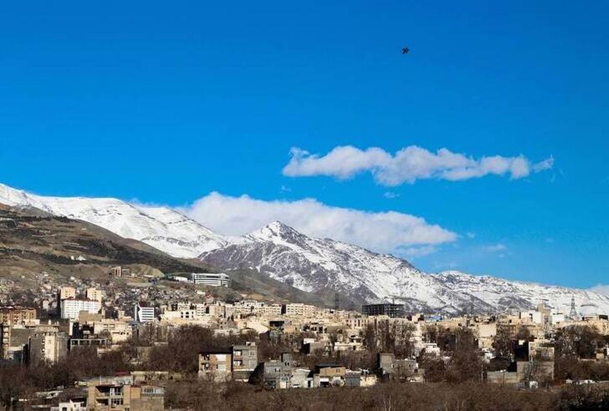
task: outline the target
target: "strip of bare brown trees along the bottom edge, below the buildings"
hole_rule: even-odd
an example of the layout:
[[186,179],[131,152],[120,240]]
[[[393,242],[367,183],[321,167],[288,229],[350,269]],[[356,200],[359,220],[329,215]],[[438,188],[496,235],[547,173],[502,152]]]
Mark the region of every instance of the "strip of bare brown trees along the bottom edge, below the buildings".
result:
[[579,396],[567,393],[557,395],[548,391],[524,392],[479,383],[385,382],[368,388],[262,390],[246,384],[230,383],[222,387],[193,380],[167,385],[165,404],[167,407],[188,407],[192,410],[540,411],[569,409],[573,399],[579,401]]

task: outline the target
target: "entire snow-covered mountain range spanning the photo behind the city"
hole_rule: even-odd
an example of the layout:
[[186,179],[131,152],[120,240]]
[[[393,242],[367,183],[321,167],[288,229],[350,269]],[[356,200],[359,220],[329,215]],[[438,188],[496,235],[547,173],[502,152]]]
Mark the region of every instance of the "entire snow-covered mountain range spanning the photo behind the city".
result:
[[609,297],[597,293],[454,271],[425,273],[404,259],[308,237],[280,222],[235,238],[214,233],[171,208],[116,198],[43,197],[2,184],[0,203],[84,220],[171,256],[200,256],[209,267],[261,275],[256,281],[269,276],[276,280],[273,284],[323,295],[325,301],[338,292],[355,304],[395,300],[411,311],[451,313],[527,309],[543,301],[568,312],[573,297],[581,311],[609,313]]

